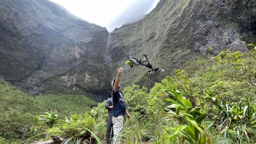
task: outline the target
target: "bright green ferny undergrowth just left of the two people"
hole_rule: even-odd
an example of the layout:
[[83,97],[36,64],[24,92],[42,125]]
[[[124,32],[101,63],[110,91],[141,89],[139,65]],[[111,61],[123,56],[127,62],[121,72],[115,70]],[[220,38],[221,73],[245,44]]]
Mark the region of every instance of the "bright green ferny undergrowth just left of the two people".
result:
[[[55,114],[56,115],[56,114]],[[54,118],[52,118],[54,119]],[[90,129],[94,127],[94,118],[89,113],[83,115],[71,115],[65,120],[57,120],[54,126],[44,122],[45,119],[37,119],[32,127],[31,141],[44,141],[51,139],[51,136],[66,137],[64,144],[90,144],[90,142],[100,142]],[[91,138],[94,136],[95,138]]]

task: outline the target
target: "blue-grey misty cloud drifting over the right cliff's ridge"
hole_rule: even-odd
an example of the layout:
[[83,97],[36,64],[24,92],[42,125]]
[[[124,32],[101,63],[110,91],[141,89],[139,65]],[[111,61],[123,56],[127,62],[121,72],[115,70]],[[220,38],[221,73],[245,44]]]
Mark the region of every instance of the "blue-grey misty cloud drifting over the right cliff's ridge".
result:
[[[114,18],[107,26],[106,29],[112,32],[115,28],[120,28],[124,24],[131,24],[142,19],[142,9],[143,15],[148,14],[153,8],[155,8],[156,3],[159,0],[136,0],[134,3],[128,5],[123,12]],[[142,3],[142,4],[141,4]]]

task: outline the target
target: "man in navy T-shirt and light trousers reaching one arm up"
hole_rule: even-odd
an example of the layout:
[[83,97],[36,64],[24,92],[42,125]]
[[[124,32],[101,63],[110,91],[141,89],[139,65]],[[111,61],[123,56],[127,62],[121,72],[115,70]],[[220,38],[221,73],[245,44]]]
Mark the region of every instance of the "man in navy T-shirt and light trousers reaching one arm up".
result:
[[126,110],[126,102],[125,102],[125,95],[121,90],[119,90],[119,79],[120,75],[123,72],[123,68],[120,67],[117,72],[116,80],[112,82],[112,98],[113,98],[113,130],[114,130],[114,138],[113,138],[113,144],[121,144],[120,138],[118,137],[121,134],[121,130],[124,126],[125,121],[125,115],[127,115],[128,118],[130,118],[129,113]]

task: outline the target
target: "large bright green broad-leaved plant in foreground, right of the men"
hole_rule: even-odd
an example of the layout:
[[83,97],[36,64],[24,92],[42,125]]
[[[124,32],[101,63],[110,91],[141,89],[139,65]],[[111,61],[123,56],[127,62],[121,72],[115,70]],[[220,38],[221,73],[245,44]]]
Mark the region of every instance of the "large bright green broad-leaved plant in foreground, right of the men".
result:
[[[181,136],[184,141],[187,140],[190,144],[210,144],[210,139],[206,138],[206,134],[201,126],[205,112],[200,107],[193,108],[192,103],[187,98],[182,97],[181,93],[174,89],[170,84],[167,84],[165,89],[166,95],[172,99],[167,99],[172,103],[168,106],[168,117],[176,119],[183,125],[178,125],[175,128],[167,127],[167,130],[174,131],[170,137]],[[173,111],[175,109],[175,111]]]

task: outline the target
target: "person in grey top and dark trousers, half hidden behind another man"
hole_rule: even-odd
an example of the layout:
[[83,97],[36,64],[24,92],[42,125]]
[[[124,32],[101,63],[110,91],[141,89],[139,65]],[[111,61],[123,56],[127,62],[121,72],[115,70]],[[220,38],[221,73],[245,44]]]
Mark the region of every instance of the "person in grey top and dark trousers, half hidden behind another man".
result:
[[[111,134],[111,138],[113,138],[113,136],[114,136],[113,123],[112,123],[112,116],[113,116],[113,99],[112,99],[112,97],[106,101],[105,108],[108,110],[106,141],[107,141],[107,144],[111,144],[110,134]],[[111,130],[112,130],[112,133],[111,133]]]

